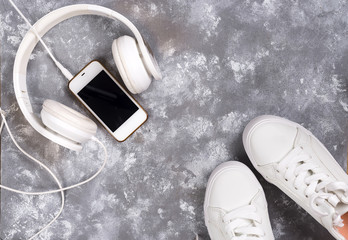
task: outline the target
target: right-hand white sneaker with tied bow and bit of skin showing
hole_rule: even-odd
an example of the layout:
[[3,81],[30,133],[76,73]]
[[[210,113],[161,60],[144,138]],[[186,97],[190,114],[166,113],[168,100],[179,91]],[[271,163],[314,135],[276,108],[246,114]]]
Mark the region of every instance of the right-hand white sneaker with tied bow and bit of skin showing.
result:
[[333,237],[348,239],[348,177],[301,125],[275,116],[252,120],[244,148],[261,175],[303,207]]

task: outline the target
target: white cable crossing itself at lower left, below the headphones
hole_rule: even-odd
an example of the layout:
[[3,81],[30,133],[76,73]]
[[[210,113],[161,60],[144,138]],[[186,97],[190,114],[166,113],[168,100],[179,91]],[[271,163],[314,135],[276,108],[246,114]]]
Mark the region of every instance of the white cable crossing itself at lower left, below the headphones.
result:
[[105,145],[99,141],[97,138],[95,137],[92,137],[92,140],[97,142],[100,146],[102,146],[103,150],[104,150],[104,153],[105,153],[105,156],[104,156],[104,162],[102,164],[102,166],[99,168],[99,170],[90,178],[88,178],[87,180],[85,181],[82,181],[80,183],[77,183],[75,185],[72,185],[72,186],[69,186],[69,187],[65,187],[63,188],[62,185],[60,184],[58,178],[55,176],[55,174],[45,165],[43,164],[42,162],[40,162],[39,160],[37,160],[36,158],[34,158],[33,156],[31,156],[29,153],[27,153],[26,151],[24,151],[17,143],[17,141],[14,139],[13,135],[12,135],[12,132],[10,131],[10,128],[7,124],[7,121],[6,121],[6,117],[4,115],[4,111],[1,110],[0,108],[0,114],[1,114],[1,117],[2,117],[2,122],[1,122],[1,125],[0,125],[0,134],[2,132],[2,129],[3,129],[3,126],[6,127],[9,135],[10,135],[10,138],[11,140],[13,141],[13,143],[15,144],[15,146],[24,154],[26,155],[28,158],[30,158],[31,160],[33,160],[34,162],[36,162],[37,164],[39,164],[42,168],[44,168],[53,178],[54,180],[56,181],[56,183],[58,184],[59,186],[59,189],[57,190],[52,190],[52,191],[44,191],[44,192],[25,192],[25,191],[21,191],[21,190],[17,190],[17,189],[14,189],[14,188],[10,188],[10,187],[6,187],[4,185],[1,185],[0,184],[0,188],[3,188],[5,190],[8,190],[8,191],[11,191],[11,192],[15,192],[15,193],[19,193],[19,194],[25,194],[25,195],[43,195],[43,194],[49,194],[49,193],[56,193],[56,192],[60,192],[61,193],[61,197],[62,197],[62,204],[61,204],[61,207],[59,209],[59,212],[57,213],[57,215],[46,225],[44,226],[39,232],[37,232],[35,235],[33,235],[29,240],[31,239],[34,239],[35,237],[37,237],[40,233],[42,233],[45,229],[47,229],[50,225],[52,225],[53,222],[55,222],[58,217],[60,216],[60,214],[62,213],[63,211],[63,208],[64,208],[64,204],[65,204],[65,197],[64,197],[64,190],[67,190],[67,189],[72,189],[72,188],[75,188],[75,187],[78,187],[78,186],[81,186],[82,184],[85,184],[89,181],[91,181],[92,179],[94,179],[102,170],[103,168],[105,167],[106,165],[106,162],[107,162],[107,158],[108,158],[108,154],[107,154],[107,150],[106,150],[106,147]]

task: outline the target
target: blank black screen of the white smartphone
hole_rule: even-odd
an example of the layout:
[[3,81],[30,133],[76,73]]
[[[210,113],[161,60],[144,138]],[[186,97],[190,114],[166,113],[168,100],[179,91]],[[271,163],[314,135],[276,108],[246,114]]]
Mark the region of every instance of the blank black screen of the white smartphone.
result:
[[78,95],[113,132],[139,109],[104,70]]

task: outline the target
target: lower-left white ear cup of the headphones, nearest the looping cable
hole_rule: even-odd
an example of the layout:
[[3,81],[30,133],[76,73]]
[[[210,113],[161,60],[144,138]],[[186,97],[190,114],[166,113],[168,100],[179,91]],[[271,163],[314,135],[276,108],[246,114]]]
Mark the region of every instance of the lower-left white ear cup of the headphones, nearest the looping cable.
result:
[[88,141],[97,132],[97,125],[91,119],[50,99],[43,103],[41,119],[46,127],[77,143]]

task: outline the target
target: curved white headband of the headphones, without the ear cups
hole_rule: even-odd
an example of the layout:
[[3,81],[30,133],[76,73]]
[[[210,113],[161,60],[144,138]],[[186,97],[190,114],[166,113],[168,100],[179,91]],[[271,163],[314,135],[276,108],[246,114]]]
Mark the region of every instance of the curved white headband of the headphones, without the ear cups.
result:
[[[150,74],[152,74],[155,79],[161,78],[160,72],[156,68],[156,65],[153,64],[152,56],[149,54],[138,29],[126,17],[109,8],[91,4],[76,4],[62,7],[42,17],[34,24],[33,28],[35,28],[39,35],[42,37],[46,32],[48,32],[51,28],[53,28],[60,22],[80,15],[100,15],[114,20],[119,20],[124,23],[133,32],[135,39],[138,42],[139,50],[142,54],[144,64]],[[37,38],[33,30],[30,29],[24,36],[16,54],[13,66],[13,85],[19,108],[21,109],[24,117],[27,119],[29,124],[40,134],[58,143],[59,145],[75,151],[79,151],[82,148],[79,143],[73,142],[47,129],[42,123],[41,119],[39,119],[33,113],[27,90],[26,74],[29,57],[38,41],[39,39]]]

